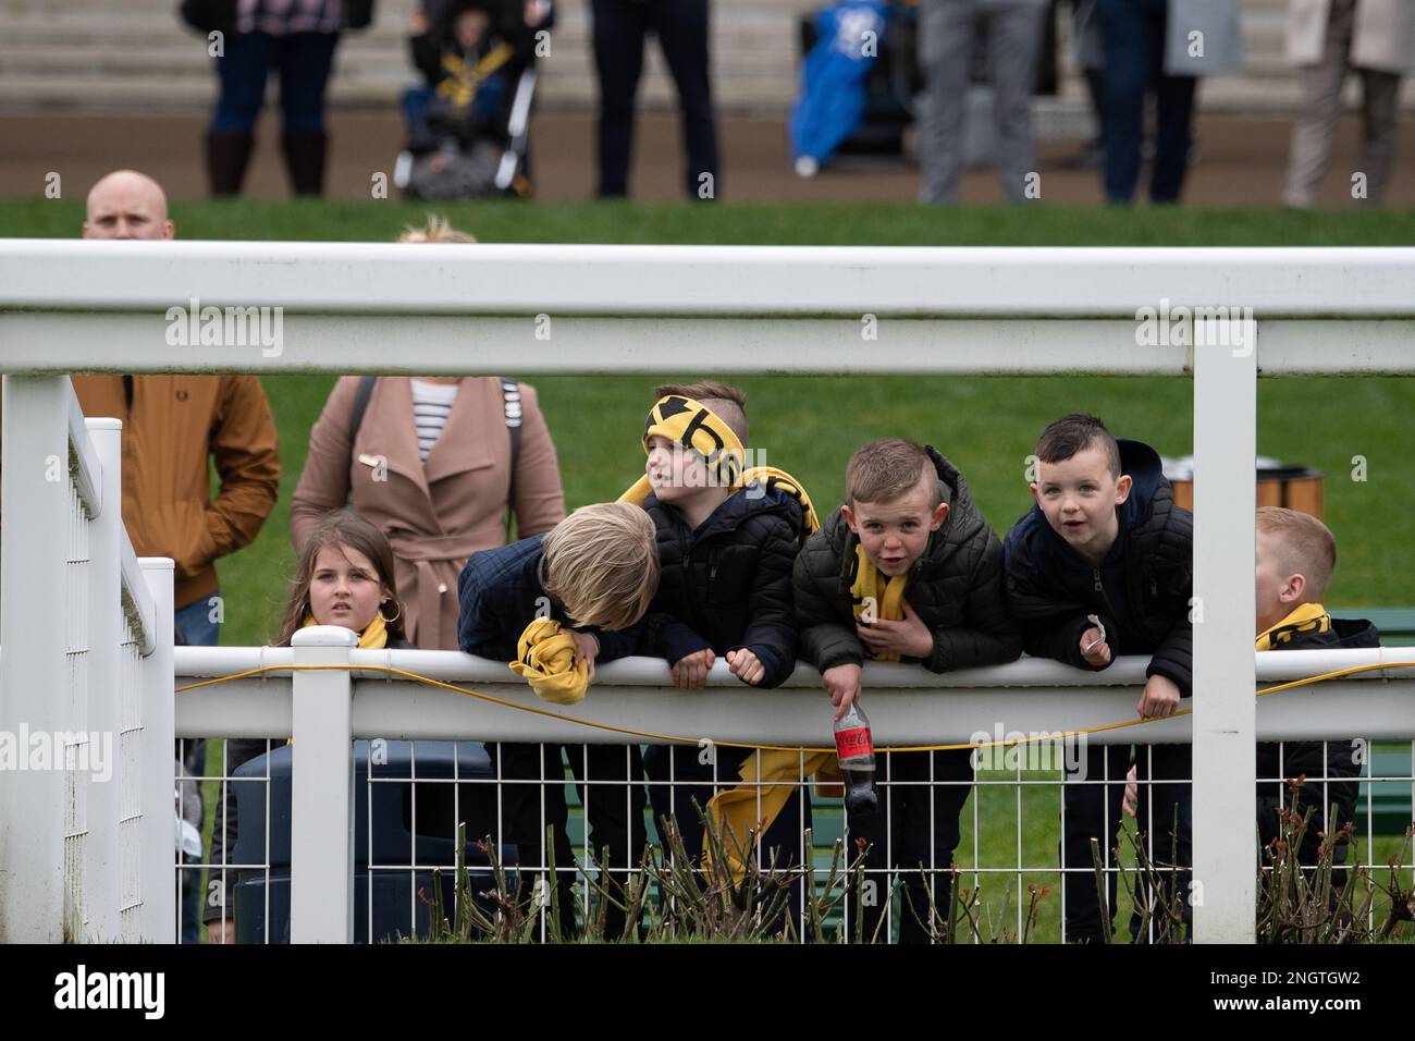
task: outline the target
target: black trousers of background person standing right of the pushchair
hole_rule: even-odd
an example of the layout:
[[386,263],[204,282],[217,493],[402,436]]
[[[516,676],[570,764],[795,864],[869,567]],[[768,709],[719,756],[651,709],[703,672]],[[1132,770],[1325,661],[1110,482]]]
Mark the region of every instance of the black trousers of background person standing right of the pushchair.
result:
[[683,191],[689,198],[719,197],[717,130],[708,68],[708,0],[591,0],[591,7],[594,69],[600,79],[599,195],[628,194],[634,96],[644,71],[644,41],[652,31],[678,88],[688,153]]

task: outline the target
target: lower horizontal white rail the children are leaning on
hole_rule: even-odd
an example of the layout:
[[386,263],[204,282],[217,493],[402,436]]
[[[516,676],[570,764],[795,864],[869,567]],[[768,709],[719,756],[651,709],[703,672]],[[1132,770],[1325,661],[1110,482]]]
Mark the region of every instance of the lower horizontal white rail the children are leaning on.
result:
[[[289,647],[177,647],[177,684],[260,666],[289,666]],[[1339,669],[1409,661],[1415,650],[1275,652],[1258,654],[1261,684],[1285,683]],[[657,659],[601,666],[577,705],[536,700],[504,663],[456,652],[354,650],[354,666],[385,666],[454,683],[550,715],[522,712],[456,691],[379,673],[354,674],[355,738],[574,741],[662,744],[584,727],[590,721],[642,734],[716,742],[829,745],[831,708],[819,674],[798,666],[775,691],[743,686],[719,663],[700,691],[678,691]],[[1102,673],[1023,659],[1009,666],[938,676],[917,666],[865,666],[865,701],[880,745],[954,744],[978,735],[1084,729],[1135,718],[1148,659],[1122,657]],[[287,738],[291,734],[290,673],[273,671],[177,695],[177,735]],[[1415,736],[1415,669],[1388,667],[1258,698],[1258,738],[1405,739]],[[1186,702],[1187,705],[1189,702]],[[1087,735],[1094,744],[1186,742],[1191,718],[1153,721]]]

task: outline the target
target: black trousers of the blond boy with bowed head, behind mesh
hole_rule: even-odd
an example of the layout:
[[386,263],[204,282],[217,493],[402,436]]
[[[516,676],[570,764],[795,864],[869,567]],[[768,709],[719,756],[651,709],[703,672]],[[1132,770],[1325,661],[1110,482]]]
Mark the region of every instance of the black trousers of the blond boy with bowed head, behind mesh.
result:
[[[625,887],[630,871],[644,854],[644,761],[638,745],[541,745],[516,742],[488,744],[492,770],[499,769],[502,841],[516,844],[521,864],[552,864],[556,885],[560,931],[574,933],[574,850],[566,831],[569,807],[565,802],[563,752],[576,779],[576,792],[584,806],[589,843],[597,861],[610,868],[617,887]],[[499,762],[498,762],[499,761]],[[545,779],[548,783],[541,783]],[[589,782],[589,783],[587,783]],[[543,795],[542,795],[543,792]],[[542,799],[543,809],[542,809]],[[545,829],[553,829],[553,860],[546,860]],[[608,860],[601,860],[608,847]],[[610,887],[614,891],[613,887]],[[591,905],[597,899],[591,897]],[[610,905],[606,935],[624,932],[624,912]]]

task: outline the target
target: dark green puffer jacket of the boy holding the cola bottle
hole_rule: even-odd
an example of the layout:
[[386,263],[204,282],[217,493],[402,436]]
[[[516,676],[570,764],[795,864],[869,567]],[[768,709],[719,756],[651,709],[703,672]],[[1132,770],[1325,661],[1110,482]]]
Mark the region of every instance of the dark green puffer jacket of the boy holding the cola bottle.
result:
[[[958,467],[934,448],[927,450],[945,486],[948,517],[930,533],[904,588],[904,599],[934,633],[934,653],[921,664],[947,673],[1012,661],[1022,644],[1003,601],[1002,542],[978,511]],[[865,661],[850,596],[859,541],[836,507],[797,557],[792,579],[801,656],[822,673]]]

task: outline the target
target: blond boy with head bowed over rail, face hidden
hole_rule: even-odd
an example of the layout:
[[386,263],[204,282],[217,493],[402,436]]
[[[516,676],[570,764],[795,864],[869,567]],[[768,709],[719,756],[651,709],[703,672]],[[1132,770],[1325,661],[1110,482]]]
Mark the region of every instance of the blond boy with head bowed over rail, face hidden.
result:
[[[458,646],[478,657],[529,663],[533,647],[528,644],[535,642],[531,633],[559,623],[574,642],[572,669],[579,676],[579,688],[565,700],[577,700],[594,680],[596,661],[638,650],[640,620],[654,599],[658,574],[654,525],[642,510],[623,503],[580,507],[545,535],[471,555],[457,581]],[[502,742],[488,745],[487,751],[499,759],[492,769],[499,769],[504,782],[519,782],[502,785],[501,806],[505,838],[516,843],[521,864],[548,863],[541,816],[543,787],[545,823],[555,829],[562,929],[569,933],[574,928],[574,905],[566,894],[574,880],[574,855],[566,834],[560,755],[569,758],[580,782],[591,847],[596,855],[608,847],[606,865],[623,885],[644,846],[638,746]],[[584,783],[589,780],[614,783]],[[623,928],[623,912],[610,906],[607,935],[617,936]]]

